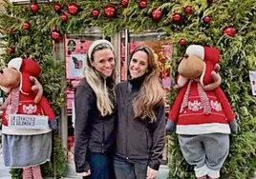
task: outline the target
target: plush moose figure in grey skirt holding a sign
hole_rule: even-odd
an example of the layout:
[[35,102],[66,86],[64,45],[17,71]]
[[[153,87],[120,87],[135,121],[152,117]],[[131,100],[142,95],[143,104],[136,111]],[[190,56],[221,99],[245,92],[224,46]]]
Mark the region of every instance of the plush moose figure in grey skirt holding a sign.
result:
[[8,68],[0,70],[0,88],[8,92],[1,106],[4,163],[23,169],[24,179],[42,179],[40,165],[50,161],[52,129],[57,127],[42,89],[33,90],[38,89],[33,84],[40,73],[35,61],[22,58],[12,59]]

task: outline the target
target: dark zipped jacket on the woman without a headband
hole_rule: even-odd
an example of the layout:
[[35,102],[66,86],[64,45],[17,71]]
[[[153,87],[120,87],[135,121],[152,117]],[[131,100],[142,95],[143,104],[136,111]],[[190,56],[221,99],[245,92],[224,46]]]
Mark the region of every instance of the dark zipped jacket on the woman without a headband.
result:
[[155,123],[133,119],[132,102],[142,82],[140,78],[117,85],[117,156],[158,170],[164,148],[164,106],[156,109]]

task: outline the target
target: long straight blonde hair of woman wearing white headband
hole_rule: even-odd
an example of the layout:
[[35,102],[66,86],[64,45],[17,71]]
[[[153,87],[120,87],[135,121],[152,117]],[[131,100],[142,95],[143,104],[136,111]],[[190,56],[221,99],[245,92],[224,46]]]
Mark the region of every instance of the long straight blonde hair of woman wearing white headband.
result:
[[[89,59],[89,55],[87,55],[87,59],[85,59],[83,66],[83,76],[86,78],[88,84],[96,93],[96,107],[102,116],[111,114],[113,112],[114,102],[110,99],[109,90],[106,85],[106,78],[101,76],[101,74],[99,74],[94,69],[91,63],[94,61],[94,53],[96,50],[105,49],[110,49],[113,51],[111,46],[108,44],[99,44],[94,48],[94,50],[92,50],[92,54],[90,54],[91,59]],[[111,77],[113,78],[113,75]]]

